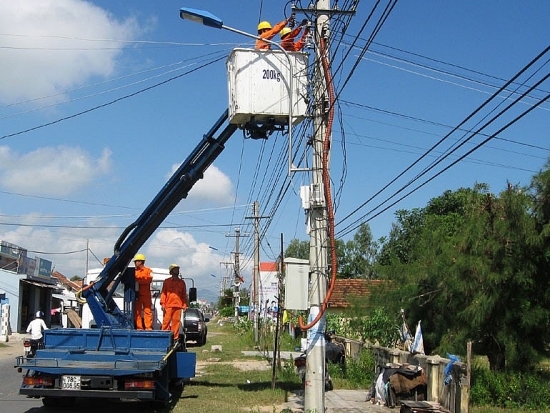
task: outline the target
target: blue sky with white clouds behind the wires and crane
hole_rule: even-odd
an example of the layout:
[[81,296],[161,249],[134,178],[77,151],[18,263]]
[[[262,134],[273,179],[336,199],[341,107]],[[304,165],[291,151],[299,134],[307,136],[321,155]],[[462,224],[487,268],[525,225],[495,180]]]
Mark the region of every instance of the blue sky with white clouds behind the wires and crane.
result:
[[[337,236],[351,239],[361,222],[375,239],[387,236],[396,210],[424,207],[445,190],[528,185],[550,154],[550,104],[540,103],[549,82],[514,102],[548,75],[548,54],[482,105],[548,47],[550,2],[374,6],[358,1],[353,16],[331,19]],[[83,276],[112,256],[124,228],[222,115],[226,59],[253,40],[182,20],[180,7],[207,7],[251,33],[291,13],[277,0],[0,1],[0,240]],[[313,18],[297,14],[305,17]],[[315,50],[306,51],[312,63]],[[311,128],[293,133],[296,164],[310,166]],[[300,187],[311,175],[288,176],[287,145],[285,134],[258,141],[237,131],[142,247],[146,264],[180,264],[199,298],[214,299],[232,274],[239,228],[250,285],[254,201],[261,261],[307,240]]]

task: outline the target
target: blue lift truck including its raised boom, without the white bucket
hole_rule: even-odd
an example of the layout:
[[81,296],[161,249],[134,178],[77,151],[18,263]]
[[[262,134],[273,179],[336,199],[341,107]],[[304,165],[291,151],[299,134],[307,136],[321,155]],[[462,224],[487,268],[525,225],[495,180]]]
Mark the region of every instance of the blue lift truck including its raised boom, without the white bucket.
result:
[[[169,403],[174,389],[195,376],[196,354],[185,338],[171,331],[134,328],[135,279],[129,264],[181,199],[223,151],[237,130],[228,111],[204,135],[138,219],[118,238],[114,254],[79,296],[97,328],[47,330],[44,346],[32,358],[16,358],[23,374],[19,393],[42,398],[45,406],[67,405],[77,398],[138,399]],[[217,136],[216,136],[217,134]],[[115,292],[124,296],[120,308]]]

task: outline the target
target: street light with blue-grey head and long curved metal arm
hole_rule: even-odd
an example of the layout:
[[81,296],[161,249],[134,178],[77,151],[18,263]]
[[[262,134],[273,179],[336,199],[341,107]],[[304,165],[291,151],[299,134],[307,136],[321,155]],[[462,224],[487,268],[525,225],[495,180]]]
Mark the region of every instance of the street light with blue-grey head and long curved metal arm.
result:
[[289,74],[290,74],[290,79],[288,82],[288,89],[289,89],[288,90],[288,173],[290,175],[290,172],[293,171],[293,168],[292,168],[292,93],[294,91],[294,84],[293,84],[294,73],[292,70],[292,60],[290,59],[288,52],[279,43],[274,42],[273,40],[263,39],[260,36],[257,36],[255,34],[243,32],[242,30],[224,25],[223,21],[219,17],[214,16],[212,13],[209,13],[205,10],[182,7],[180,9],[180,17],[184,20],[191,20],[191,21],[194,21],[195,23],[200,23],[204,26],[213,27],[215,29],[225,29],[230,32],[242,34],[243,36],[250,37],[252,39],[262,40],[266,43],[269,43],[270,45],[276,46],[281,52],[284,53],[286,59],[288,60],[288,68],[289,68]]

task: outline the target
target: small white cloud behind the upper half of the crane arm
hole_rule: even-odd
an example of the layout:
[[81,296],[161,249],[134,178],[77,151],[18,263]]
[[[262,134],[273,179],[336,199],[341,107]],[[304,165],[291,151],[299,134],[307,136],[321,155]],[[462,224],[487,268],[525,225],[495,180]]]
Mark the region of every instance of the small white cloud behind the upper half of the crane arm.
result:
[[[170,175],[167,176],[167,179],[172,176],[179,166],[179,164],[172,166],[172,171]],[[187,200],[191,202],[194,201],[195,203],[206,201],[210,205],[212,203],[216,205],[227,205],[232,202],[234,198],[233,184],[229,176],[224,174],[216,166],[210,165],[204,173],[204,178],[199,179],[189,192]]]

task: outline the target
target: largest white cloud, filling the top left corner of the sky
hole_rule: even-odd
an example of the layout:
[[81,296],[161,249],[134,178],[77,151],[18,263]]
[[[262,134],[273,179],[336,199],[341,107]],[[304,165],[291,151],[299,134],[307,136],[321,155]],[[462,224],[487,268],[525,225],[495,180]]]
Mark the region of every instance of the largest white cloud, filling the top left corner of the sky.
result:
[[[117,20],[82,0],[0,2],[0,101],[58,95],[92,76],[110,76],[125,43],[139,31],[135,19]],[[110,41],[109,41],[110,40]]]

